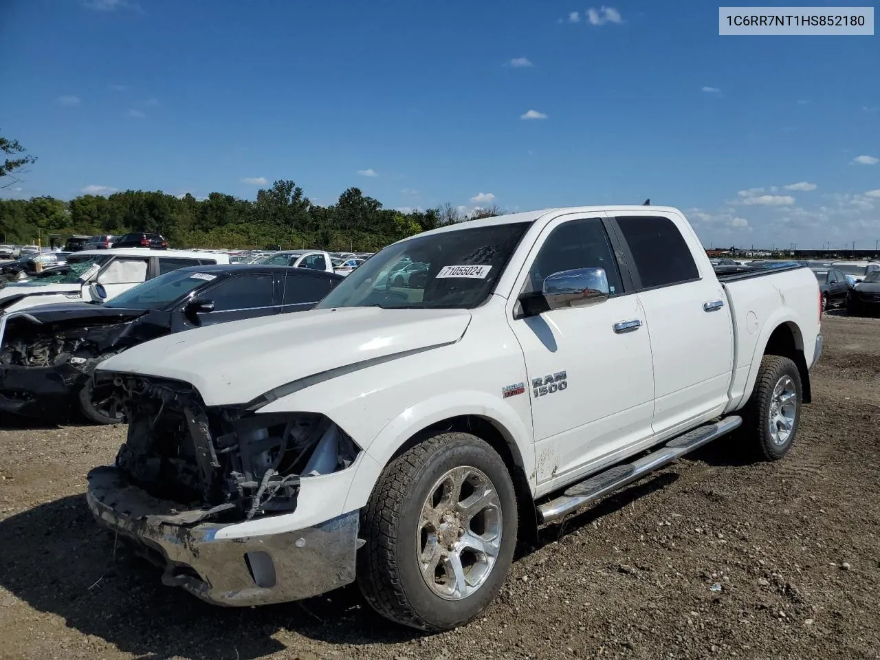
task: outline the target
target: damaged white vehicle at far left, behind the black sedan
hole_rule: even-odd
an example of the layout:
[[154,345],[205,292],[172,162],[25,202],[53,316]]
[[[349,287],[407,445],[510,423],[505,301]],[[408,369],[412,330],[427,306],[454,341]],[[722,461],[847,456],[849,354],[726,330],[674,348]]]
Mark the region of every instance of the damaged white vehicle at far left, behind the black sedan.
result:
[[[3,334],[4,314],[9,312],[71,300],[110,300],[168,271],[215,263],[229,263],[229,257],[182,250],[112,249],[71,253],[66,268],[53,268],[24,282],[11,282],[0,290],[0,334]],[[105,298],[98,296],[98,284],[103,286]]]

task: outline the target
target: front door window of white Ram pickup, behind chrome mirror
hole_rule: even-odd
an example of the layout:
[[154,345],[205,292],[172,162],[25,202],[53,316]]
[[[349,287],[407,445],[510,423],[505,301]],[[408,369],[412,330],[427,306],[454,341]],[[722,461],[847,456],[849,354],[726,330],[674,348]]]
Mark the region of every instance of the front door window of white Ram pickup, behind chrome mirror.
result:
[[598,218],[570,220],[554,229],[529,270],[531,290],[541,290],[548,275],[575,268],[605,268],[611,295],[623,293],[617,260]]

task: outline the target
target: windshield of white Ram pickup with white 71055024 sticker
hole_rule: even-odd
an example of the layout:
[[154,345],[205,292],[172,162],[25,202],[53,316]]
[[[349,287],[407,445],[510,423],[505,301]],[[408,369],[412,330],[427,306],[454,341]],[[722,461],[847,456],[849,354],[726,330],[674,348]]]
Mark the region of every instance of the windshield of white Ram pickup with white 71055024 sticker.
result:
[[[495,289],[530,226],[510,223],[443,231],[388,246],[352,271],[316,309],[476,307]],[[409,268],[395,268],[401,261]]]

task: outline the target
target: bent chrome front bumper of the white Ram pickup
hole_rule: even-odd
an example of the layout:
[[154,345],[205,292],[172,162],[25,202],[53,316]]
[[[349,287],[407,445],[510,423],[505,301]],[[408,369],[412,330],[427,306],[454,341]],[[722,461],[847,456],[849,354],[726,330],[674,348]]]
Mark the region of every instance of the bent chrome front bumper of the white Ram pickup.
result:
[[86,500],[99,523],[164,568],[163,583],[209,603],[283,603],[355,580],[358,511],[306,529],[216,539],[231,524],[201,523],[203,511],[178,510],[132,486],[115,467],[97,467],[88,479]]

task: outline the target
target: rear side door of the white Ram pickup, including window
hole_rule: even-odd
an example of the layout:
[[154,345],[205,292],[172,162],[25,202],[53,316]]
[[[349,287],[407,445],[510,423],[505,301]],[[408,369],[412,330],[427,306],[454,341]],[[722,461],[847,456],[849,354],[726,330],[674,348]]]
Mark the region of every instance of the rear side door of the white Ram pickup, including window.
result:
[[614,224],[647,319],[655,432],[721,414],[733,370],[733,324],[708,259],[698,266],[693,258],[705,254],[703,246],[677,214],[627,212]]

